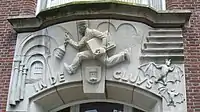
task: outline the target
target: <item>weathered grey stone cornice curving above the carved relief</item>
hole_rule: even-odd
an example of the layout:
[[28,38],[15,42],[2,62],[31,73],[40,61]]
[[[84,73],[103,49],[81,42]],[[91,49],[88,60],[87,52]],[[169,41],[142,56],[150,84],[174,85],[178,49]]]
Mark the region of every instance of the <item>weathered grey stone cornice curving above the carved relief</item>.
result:
[[15,31],[31,32],[81,19],[120,19],[142,22],[152,27],[180,28],[189,20],[189,10],[155,11],[146,6],[121,2],[72,2],[41,11],[37,16],[10,17]]

